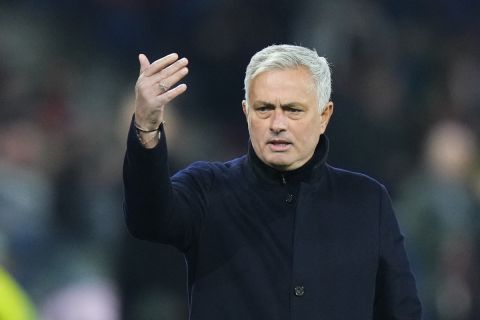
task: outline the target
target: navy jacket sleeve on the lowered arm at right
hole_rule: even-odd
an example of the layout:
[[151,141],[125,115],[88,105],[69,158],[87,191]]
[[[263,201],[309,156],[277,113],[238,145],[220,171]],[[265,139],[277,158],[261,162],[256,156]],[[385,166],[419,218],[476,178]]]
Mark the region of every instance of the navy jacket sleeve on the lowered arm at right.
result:
[[375,320],[419,320],[421,304],[390,197],[381,187]]

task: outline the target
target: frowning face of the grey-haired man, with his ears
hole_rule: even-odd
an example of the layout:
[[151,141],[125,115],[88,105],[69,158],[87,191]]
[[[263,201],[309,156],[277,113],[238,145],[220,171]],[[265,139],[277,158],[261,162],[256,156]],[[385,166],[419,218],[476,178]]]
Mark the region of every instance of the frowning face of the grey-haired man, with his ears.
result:
[[260,73],[250,81],[243,112],[253,149],[267,165],[294,170],[313,155],[333,112],[318,111],[315,84],[303,67]]

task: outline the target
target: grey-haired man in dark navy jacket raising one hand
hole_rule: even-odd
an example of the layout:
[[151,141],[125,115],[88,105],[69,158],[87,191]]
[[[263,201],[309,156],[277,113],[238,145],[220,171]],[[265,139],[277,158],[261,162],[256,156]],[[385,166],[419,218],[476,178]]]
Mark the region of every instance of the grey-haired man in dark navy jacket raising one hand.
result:
[[140,55],[124,164],[130,232],[174,245],[188,268],[190,319],[420,319],[385,188],[326,163],[327,61],[275,45],[256,53],[242,102],[250,146],[169,178],[165,105],[187,60]]

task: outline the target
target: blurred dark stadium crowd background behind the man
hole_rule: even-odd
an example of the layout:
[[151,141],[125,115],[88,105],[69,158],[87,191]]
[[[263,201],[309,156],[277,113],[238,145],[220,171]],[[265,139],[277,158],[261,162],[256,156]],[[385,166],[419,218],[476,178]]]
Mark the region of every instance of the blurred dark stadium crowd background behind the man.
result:
[[329,162],[389,189],[424,318],[480,319],[479,16],[476,0],[0,1],[0,319],[186,319],[183,257],[123,222],[137,56],[190,60],[173,173],[246,151],[244,70],[274,43],[332,64]]

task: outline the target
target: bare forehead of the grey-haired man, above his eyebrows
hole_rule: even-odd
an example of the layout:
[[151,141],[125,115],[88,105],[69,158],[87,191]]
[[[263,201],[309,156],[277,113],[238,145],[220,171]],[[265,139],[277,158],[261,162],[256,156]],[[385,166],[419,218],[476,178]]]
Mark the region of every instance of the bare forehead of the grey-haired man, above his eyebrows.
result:
[[248,99],[282,103],[315,101],[315,83],[305,67],[268,70],[250,81]]

